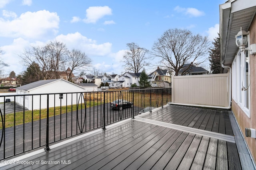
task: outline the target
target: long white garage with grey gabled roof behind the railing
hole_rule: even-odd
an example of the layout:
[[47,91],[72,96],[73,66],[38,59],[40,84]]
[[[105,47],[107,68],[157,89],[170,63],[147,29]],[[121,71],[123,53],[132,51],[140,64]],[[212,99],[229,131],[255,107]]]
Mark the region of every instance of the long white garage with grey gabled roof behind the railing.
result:
[[[24,105],[28,110],[44,109],[47,108],[47,95],[34,94],[58,93],[49,95],[49,107],[60,106],[60,103],[61,105],[71,105],[71,103],[82,99],[80,96],[84,94],[82,92],[85,92],[84,88],[64,79],[40,80],[17,87],[16,94],[21,96],[16,96],[16,102]],[[32,95],[34,96],[32,97]]]

